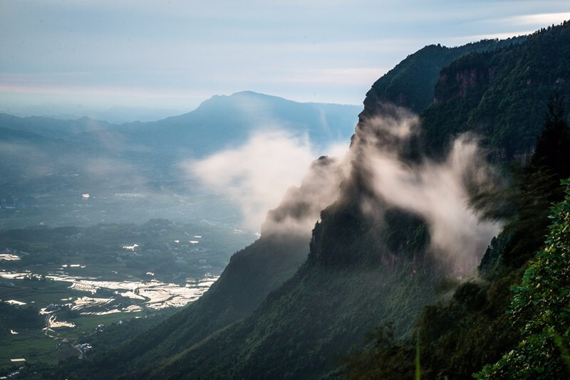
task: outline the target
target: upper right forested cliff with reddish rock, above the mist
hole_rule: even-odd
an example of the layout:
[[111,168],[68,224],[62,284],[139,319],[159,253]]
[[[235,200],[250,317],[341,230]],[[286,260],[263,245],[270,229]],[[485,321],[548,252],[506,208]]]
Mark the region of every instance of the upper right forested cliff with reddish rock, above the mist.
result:
[[436,101],[421,112],[430,154],[442,156],[451,139],[470,131],[482,137],[497,162],[529,157],[541,132],[544,100],[569,88],[569,29],[566,21],[524,43],[473,51],[443,68]]

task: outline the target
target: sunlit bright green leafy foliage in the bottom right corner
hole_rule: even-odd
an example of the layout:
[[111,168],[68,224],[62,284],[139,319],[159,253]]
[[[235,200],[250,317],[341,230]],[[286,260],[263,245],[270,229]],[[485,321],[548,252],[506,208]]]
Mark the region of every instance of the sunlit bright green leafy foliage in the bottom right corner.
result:
[[524,272],[509,314],[522,340],[480,379],[562,379],[570,376],[570,181],[566,197],[551,208],[546,246]]

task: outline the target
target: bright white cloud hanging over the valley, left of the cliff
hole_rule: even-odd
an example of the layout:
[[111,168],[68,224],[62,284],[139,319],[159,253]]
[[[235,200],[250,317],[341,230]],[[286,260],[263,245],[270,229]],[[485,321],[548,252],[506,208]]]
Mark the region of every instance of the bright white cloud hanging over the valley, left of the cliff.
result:
[[183,166],[206,186],[237,201],[244,225],[259,231],[267,211],[279,205],[287,189],[301,183],[314,158],[306,135],[271,130],[252,134],[241,147]]

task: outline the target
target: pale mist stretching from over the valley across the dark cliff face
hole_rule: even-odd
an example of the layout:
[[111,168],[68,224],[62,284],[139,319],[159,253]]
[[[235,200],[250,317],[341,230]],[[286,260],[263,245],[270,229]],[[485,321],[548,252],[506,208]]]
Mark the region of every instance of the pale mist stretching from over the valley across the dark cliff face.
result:
[[[306,136],[273,131],[258,132],[239,148],[186,162],[185,167],[202,183],[238,201],[252,230],[265,219],[264,233],[296,235],[310,233],[321,210],[341,196],[341,181],[359,175],[357,181],[364,181],[368,195],[380,203],[424,218],[430,252],[451,270],[465,273],[501,228],[470,204],[471,191],[494,186],[494,171],[477,139],[468,134],[457,137],[441,161],[403,159],[419,130],[416,115],[385,106],[382,116],[359,122],[342,160],[313,161]],[[364,198],[366,212],[382,213]]]

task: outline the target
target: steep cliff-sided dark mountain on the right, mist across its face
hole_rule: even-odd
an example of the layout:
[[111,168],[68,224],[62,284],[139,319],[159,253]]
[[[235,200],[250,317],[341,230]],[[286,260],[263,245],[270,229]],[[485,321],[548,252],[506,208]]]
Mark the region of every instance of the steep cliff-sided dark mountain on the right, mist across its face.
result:
[[[549,95],[558,92],[568,101],[570,23],[482,48],[489,43],[455,52],[425,48],[378,80],[364,101],[348,157],[338,165],[338,192],[321,186],[336,200],[323,206],[296,271],[296,265],[286,269],[279,262],[304,256],[302,242],[288,247],[262,236],[234,256],[202,300],[144,337],[45,376],[402,379],[419,371],[426,378],[465,379],[499,362],[522,339],[505,310],[509,287],[527,265],[503,261],[505,241],[509,231],[539,221],[537,213],[522,218],[525,210],[516,205],[525,204],[522,197],[534,204],[544,184],[541,173],[549,168],[526,169],[524,186],[513,180],[514,196],[499,196],[498,206],[491,205],[512,202],[518,210],[501,234],[503,222],[485,219],[474,202],[485,192],[500,195],[494,179],[509,176],[513,160],[527,161],[532,139],[545,125],[537,115],[546,112]],[[269,218],[304,210],[304,194],[298,194],[293,207]],[[497,251],[492,265],[469,280],[487,248]],[[240,283],[249,292],[263,289],[252,292],[245,308],[230,301],[248,299],[239,294]],[[532,299],[525,302],[531,309],[520,317],[522,324],[532,315]],[[196,326],[190,316],[202,322]],[[541,347],[552,353],[568,343],[567,336],[554,338]],[[552,364],[552,373],[561,373],[563,359]],[[550,373],[549,365],[541,371]]]

